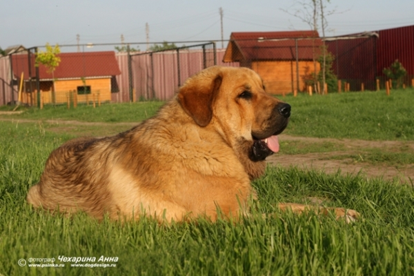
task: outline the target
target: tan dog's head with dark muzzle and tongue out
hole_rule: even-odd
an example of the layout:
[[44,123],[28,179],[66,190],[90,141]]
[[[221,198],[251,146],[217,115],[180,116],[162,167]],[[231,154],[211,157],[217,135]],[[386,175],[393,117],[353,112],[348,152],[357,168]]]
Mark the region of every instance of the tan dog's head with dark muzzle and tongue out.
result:
[[248,68],[202,70],[181,86],[178,99],[199,126],[214,124],[229,144],[251,141],[252,161],[279,150],[277,135],[290,117],[288,103],[268,95],[262,79]]

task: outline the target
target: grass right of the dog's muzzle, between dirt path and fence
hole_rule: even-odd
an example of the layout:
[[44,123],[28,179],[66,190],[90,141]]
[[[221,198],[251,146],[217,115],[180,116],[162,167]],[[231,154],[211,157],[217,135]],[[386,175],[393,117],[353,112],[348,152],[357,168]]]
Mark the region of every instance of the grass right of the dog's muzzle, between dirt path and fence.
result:
[[288,96],[286,133],[308,137],[414,140],[414,90]]

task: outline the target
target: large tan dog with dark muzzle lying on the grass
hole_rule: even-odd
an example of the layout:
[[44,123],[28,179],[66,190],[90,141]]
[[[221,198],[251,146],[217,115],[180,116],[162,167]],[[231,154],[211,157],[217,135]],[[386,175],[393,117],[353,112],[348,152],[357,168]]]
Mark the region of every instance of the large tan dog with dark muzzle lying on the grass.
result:
[[[113,137],[79,138],[52,151],[27,201],[102,219],[184,221],[248,215],[250,181],[279,151],[290,105],[248,68],[213,66],[186,80],[154,117]],[[302,204],[279,204],[302,213]],[[328,209],[320,207],[323,213]],[[358,213],[332,208],[337,218]]]

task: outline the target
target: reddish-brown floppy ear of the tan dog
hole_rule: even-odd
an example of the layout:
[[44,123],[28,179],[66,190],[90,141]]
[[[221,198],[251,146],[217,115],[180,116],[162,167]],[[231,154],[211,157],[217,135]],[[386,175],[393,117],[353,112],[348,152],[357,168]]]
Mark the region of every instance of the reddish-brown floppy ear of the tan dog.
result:
[[214,77],[199,74],[188,79],[179,90],[179,103],[199,126],[207,126],[213,117],[213,101],[222,79],[220,73]]

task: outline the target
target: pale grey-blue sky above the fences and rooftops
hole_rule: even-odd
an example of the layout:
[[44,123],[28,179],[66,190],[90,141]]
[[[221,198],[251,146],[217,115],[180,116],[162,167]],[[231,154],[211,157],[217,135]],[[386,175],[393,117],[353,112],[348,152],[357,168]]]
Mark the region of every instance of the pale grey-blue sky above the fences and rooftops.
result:
[[[146,43],[146,23],[150,43],[220,41],[219,8],[224,39],[231,32],[311,29],[291,15],[302,8],[298,1],[9,0],[0,8],[0,47],[76,45],[77,34],[80,44],[121,43],[121,35],[125,43]],[[325,10],[333,11],[326,36],[414,25],[414,0],[331,0]]]

